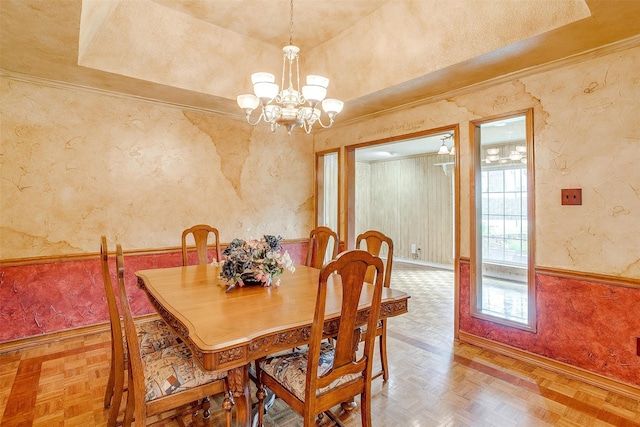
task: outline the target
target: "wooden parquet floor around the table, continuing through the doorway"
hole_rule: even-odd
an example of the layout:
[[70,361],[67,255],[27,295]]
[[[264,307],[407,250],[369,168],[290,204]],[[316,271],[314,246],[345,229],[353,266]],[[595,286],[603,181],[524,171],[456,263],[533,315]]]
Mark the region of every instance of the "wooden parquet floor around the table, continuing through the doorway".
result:
[[[637,400],[454,342],[452,283],[450,271],[394,265],[393,286],[412,298],[389,321],[391,378],[374,381],[374,426],[640,427]],[[104,426],[108,358],[106,332],[0,354],[1,426]],[[194,424],[224,425],[212,407]],[[357,410],[340,418],[360,425]],[[276,400],[266,425],[302,424]]]

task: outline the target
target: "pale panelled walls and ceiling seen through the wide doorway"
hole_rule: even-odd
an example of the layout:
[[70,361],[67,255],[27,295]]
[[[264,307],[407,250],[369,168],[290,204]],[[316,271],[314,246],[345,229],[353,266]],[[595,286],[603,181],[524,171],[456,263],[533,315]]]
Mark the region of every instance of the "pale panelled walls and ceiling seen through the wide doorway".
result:
[[452,270],[456,141],[451,127],[347,147],[347,244],[378,230],[393,240],[394,262]]

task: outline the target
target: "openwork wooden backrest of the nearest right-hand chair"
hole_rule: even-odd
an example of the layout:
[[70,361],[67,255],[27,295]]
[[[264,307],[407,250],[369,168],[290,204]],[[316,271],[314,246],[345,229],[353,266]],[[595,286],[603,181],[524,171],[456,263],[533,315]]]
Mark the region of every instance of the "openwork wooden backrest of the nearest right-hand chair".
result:
[[[373,289],[370,284],[364,282],[367,269],[373,266],[376,277]],[[337,273],[335,275],[334,273]],[[313,413],[319,413],[328,409],[332,404],[337,404],[349,398],[369,392],[371,387],[371,370],[373,364],[373,350],[376,332],[376,324],[380,315],[382,300],[382,260],[363,250],[350,250],[338,255],[335,260],[327,263],[320,271],[318,296],[311,326],[311,339],[309,343],[309,357],[307,367],[307,389],[305,402],[310,404]],[[323,325],[328,287],[342,289],[342,307],[340,325],[335,336],[335,355],[332,368],[318,377],[318,365],[321,363],[320,349],[324,337]],[[357,343],[360,342],[361,328],[356,327],[358,305],[361,296],[371,297],[372,303],[369,309],[367,330],[364,332],[364,353],[356,354]],[[316,394],[334,381],[344,380],[343,376],[350,375],[353,378],[331,391]],[[335,403],[333,403],[335,402]],[[325,409],[326,408],[326,409]]]

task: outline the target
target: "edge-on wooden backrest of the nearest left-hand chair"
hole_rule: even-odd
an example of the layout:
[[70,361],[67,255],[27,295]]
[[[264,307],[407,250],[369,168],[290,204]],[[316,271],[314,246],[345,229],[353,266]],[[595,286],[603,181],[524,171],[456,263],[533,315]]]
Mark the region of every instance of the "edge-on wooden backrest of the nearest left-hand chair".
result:
[[[128,392],[133,394],[133,399],[129,397],[128,401],[135,401],[135,419],[146,420],[144,368],[142,366],[140,344],[138,343],[138,333],[133,323],[133,314],[131,314],[131,306],[129,305],[129,298],[127,297],[127,289],[124,282],[124,256],[122,255],[122,247],[120,244],[116,245],[116,269],[118,288],[120,290],[120,307],[122,308],[122,317],[124,319],[124,333],[127,338],[127,350],[129,352]],[[144,422],[146,421],[142,421],[142,425],[144,425]],[[138,422],[136,422],[136,425],[137,424]]]

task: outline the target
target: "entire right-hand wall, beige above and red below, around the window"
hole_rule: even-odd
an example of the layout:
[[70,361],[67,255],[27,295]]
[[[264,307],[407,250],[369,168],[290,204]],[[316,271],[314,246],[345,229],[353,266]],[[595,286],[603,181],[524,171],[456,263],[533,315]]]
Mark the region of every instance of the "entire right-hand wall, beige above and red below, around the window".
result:
[[[535,264],[561,274],[536,275],[532,333],[471,317],[463,262],[460,330],[640,387],[639,69],[640,47],[610,53],[331,129],[316,149],[459,124],[459,255],[468,259],[469,121],[532,108]],[[582,206],[562,206],[562,188],[582,188]]]

